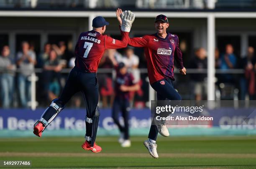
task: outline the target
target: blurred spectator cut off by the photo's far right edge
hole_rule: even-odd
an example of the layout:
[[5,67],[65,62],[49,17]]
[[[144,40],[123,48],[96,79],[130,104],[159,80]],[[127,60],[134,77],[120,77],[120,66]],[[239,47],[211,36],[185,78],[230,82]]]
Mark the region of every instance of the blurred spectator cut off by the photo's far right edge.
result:
[[[245,83],[241,79],[241,99],[245,99],[246,93],[249,94],[250,100],[256,99],[256,86],[255,86],[255,71],[256,71],[256,57],[253,47],[248,47],[247,55],[241,60],[241,65],[245,70]],[[246,92],[247,91],[247,92]]]

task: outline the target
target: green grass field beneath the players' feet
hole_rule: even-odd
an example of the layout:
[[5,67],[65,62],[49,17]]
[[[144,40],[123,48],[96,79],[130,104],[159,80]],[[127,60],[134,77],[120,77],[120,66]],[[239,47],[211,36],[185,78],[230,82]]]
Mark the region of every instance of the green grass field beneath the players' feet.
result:
[[82,137],[0,139],[0,160],[30,160],[32,166],[29,168],[47,169],[256,168],[256,136],[159,136],[159,159],[148,154],[143,146],[145,138],[132,137],[131,148],[121,148],[117,137],[98,137],[97,143],[102,146],[102,152],[98,154],[81,148],[84,140]]

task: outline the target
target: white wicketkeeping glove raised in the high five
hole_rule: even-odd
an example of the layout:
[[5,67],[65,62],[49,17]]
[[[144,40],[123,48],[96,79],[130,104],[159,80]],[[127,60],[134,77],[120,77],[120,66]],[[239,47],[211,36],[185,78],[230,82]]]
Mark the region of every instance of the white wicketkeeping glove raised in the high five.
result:
[[121,30],[123,32],[130,32],[133,21],[135,20],[135,15],[130,10],[125,10],[124,13],[120,15],[122,19]]

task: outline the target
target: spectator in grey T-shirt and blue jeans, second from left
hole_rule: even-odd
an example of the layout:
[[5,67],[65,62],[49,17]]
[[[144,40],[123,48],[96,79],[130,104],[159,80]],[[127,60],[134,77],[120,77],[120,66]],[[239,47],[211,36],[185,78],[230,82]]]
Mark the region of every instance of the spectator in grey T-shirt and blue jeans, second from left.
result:
[[29,50],[28,42],[22,42],[22,50],[17,53],[17,65],[20,68],[18,75],[18,88],[20,103],[22,107],[28,107],[28,101],[31,100],[31,81],[29,76],[34,73],[34,66],[36,65],[36,55]]

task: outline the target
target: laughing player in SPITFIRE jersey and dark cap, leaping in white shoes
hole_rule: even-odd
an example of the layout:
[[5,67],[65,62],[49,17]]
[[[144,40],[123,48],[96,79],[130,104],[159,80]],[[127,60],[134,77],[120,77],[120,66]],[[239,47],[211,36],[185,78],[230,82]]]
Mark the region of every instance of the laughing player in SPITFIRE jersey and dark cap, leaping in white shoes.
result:
[[[118,10],[118,14],[117,18],[121,23],[121,18],[123,18],[122,11]],[[166,32],[169,22],[165,15],[156,16],[154,26],[156,33],[139,38],[130,38],[128,45],[144,48],[149,83],[157,92],[157,100],[181,100],[181,96],[173,87],[174,58],[177,61],[179,72],[183,75],[186,74],[186,68],[184,68],[182,61],[182,52],[179,49],[179,38],[177,35]],[[154,118],[148,134],[148,140],[144,141],[144,145],[154,158],[159,157],[156,151],[158,133],[162,136],[169,136],[169,131],[165,124]]]

